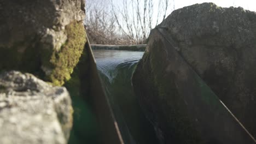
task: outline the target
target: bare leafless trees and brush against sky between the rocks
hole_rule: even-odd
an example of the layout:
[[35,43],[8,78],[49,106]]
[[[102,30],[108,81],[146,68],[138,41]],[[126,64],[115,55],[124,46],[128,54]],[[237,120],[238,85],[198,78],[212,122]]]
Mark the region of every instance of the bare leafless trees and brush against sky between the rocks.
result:
[[92,43],[142,44],[168,9],[169,0],[87,0],[85,25]]

